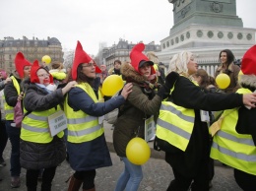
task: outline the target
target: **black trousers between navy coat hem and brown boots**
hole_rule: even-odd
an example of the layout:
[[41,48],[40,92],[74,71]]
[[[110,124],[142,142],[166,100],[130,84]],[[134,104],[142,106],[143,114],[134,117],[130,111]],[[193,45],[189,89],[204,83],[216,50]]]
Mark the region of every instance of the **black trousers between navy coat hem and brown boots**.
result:
[[88,171],[76,171],[74,177],[78,180],[83,180],[83,189],[90,190],[95,188],[96,169]]

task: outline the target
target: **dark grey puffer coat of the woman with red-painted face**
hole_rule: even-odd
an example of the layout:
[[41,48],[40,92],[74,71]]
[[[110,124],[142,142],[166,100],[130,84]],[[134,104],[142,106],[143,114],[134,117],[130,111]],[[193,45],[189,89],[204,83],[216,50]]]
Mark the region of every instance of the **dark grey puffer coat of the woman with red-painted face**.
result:
[[[25,83],[26,86],[28,86],[27,83],[28,82]],[[56,107],[63,100],[64,96],[61,89],[57,89],[53,93],[48,94],[35,84],[30,84],[24,97],[24,106],[28,112],[44,111]],[[23,133],[22,130],[21,137]],[[49,136],[51,136],[50,133]],[[54,136],[53,140],[47,144],[21,140],[20,152],[21,166],[26,169],[41,169],[57,166],[66,157],[64,140],[57,136]]]

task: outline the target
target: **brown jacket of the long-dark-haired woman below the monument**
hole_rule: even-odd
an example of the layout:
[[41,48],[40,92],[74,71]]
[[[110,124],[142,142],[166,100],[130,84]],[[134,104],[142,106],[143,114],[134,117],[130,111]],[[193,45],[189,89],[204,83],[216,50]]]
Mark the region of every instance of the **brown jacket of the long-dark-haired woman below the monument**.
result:
[[[231,64],[229,64],[227,70],[228,70],[227,75],[230,78],[230,84],[226,89],[224,89],[224,93],[235,93],[240,88],[240,86],[238,84],[238,73],[240,72],[240,68],[239,68],[239,66],[231,63]],[[224,73],[223,65],[221,65],[217,68],[217,71],[215,73],[215,78],[221,73]]]

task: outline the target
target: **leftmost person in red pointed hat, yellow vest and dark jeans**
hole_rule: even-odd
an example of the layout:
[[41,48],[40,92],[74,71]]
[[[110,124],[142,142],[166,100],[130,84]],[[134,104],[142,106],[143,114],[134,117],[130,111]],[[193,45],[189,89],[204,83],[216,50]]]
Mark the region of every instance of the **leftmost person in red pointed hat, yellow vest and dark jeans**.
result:
[[18,52],[15,57],[15,68],[10,78],[11,83],[6,84],[4,89],[5,96],[5,113],[6,113],[6,131],[9,140],[12,145],[11,151],[11,187],[18,188],[21,185],[20,174],[21,174],[21,164],[20,164],[20,134],[21,128],[15,127],[14,123],[14,107],[18,100],[23,99],[23,87],[22,81],[31,76],[30,63],[23,55],[22,52]]

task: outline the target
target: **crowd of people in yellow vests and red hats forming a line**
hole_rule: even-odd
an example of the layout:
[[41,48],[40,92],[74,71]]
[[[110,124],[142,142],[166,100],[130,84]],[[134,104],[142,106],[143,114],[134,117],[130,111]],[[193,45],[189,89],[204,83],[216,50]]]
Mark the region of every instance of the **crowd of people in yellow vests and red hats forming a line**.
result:
[[[199,68],[192,52],[173,55],[164,68],[154,52],[145,55],[144,50],[143,43],[136,44],[130,62],[115,60],[107,69],[78,41],[69,70],[60,62],[52,62],[49,70],[22,52],[11,74],[0,70],[0,166],[6,165],[9,139],[12,188],[21,186],[25,168],[28,191],[36,191],[39,177],[40,190],[50,191],[57,166],[67,159],[74,170],[68,191],[95,191],[96,169],[112,165],[102,116],[118,108],[112,138],[124,167],[115,191],[139,189],[143,167],[127,158],[126,147],[135,137],[145,138],[145,120],[151,117],[154,149],[165,153],[174,174],[167,191],[209,190],[214,159],[234,169],[241,189],[256,189],[256,45],[246,51],[241,67],[229,49],[222,50],[214,77]],[[230,79],[224,90],[215,82],[222,73]],[[125,82],[114,97],[101,92],[109,75]]]

